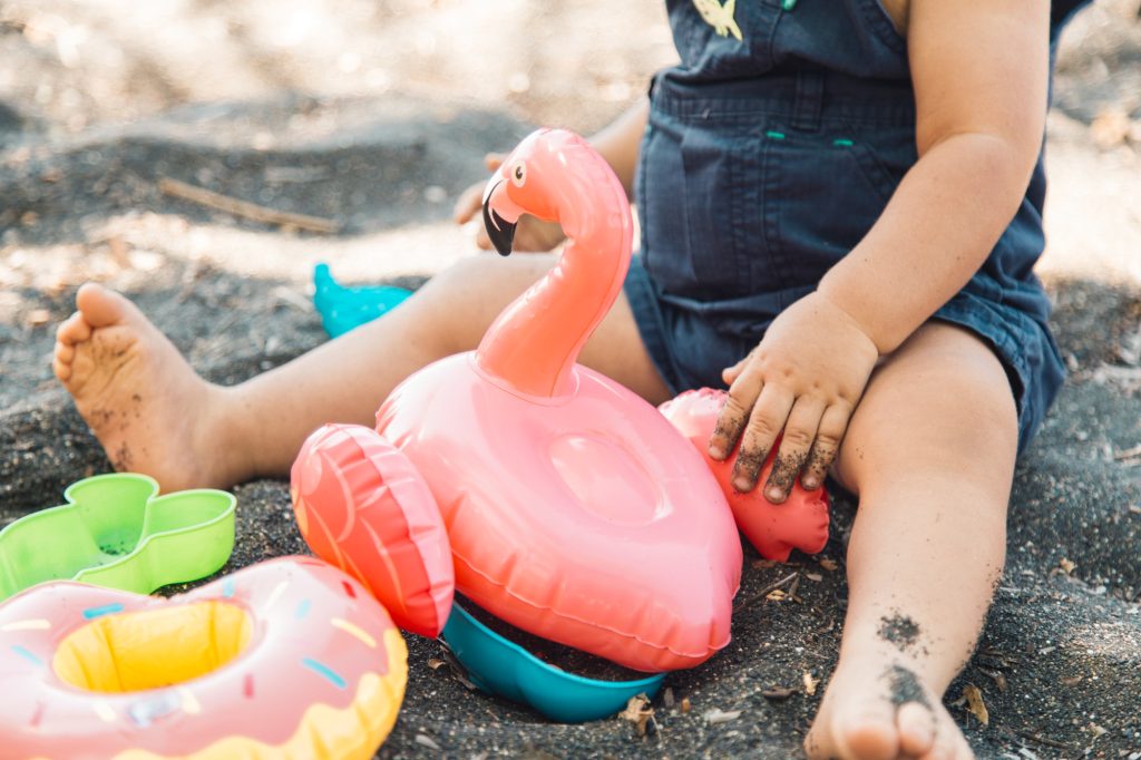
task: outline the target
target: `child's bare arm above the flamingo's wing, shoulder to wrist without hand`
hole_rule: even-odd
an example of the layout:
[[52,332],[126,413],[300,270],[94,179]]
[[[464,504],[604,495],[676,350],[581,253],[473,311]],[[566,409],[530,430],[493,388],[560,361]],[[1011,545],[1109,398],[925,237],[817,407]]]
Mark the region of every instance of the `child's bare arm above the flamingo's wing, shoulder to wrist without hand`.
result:
[[971,278],[1018,210],[1042,147],[1049,22],[1049,3],[909,3],[920,160],[819,286],[881,354]]

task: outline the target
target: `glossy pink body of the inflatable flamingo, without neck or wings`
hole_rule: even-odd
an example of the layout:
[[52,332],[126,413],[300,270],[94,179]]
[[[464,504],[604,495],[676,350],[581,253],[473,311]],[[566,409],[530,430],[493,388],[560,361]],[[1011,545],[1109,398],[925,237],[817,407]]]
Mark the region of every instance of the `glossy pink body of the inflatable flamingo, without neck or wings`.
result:
[[459,591],[536,636],[642,671],[729,641],[741,543],[701,455],[653,406],[583,366],[553,402],[474,353],[422,370],[378,431],[423,475]]

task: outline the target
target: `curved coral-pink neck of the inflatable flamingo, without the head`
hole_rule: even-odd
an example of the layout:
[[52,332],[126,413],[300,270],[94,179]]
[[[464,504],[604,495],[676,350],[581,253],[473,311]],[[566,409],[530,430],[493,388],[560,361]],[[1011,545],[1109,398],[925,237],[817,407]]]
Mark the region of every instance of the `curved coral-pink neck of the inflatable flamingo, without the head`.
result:
[[625,191],[600,157],[585,169],[555,199],[568,238],[563,256],[500,314],[476,353],[479,367],[516,393],[574,391],[578,351],[614,305],[630,267]]

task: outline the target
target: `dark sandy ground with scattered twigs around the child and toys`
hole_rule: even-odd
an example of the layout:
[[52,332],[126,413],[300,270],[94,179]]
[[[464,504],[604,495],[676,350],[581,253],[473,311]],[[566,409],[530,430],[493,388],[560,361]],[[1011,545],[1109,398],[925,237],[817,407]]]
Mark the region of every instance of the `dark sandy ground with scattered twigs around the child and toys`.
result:
[[[947,695],[984,758],[1141,758],[1138,11],[1098,2],[1059,55],[1039,272],[1071,377],[1019,463],[1005,576]],[[126,290],[199,371],[237,382],[324,339],[314,262],[414,285],[474,254],[471,231],[447,217],[485,151],[537,123],[589,132],[670,59],[657,3],[0,6],[0,524],[108,467],[48,366],[79,283]],[[164,196],[162,178],[340,232],[237,219]],[[304,550],[284,483],[236,493],[232,567]],[[733,645],[670,677],[649,736],[469,693],[430,666],[438,644],[408,637],[408,695],[380,757],[798,757],[823,692],[804,677],[835,662],[852,509],[839,501],[819,557],[748,557]],[[800,601],[753,599],[790,573]],[[969,685],[987,725],[968,711]],[[766,697],[774,687],[795,690]]]

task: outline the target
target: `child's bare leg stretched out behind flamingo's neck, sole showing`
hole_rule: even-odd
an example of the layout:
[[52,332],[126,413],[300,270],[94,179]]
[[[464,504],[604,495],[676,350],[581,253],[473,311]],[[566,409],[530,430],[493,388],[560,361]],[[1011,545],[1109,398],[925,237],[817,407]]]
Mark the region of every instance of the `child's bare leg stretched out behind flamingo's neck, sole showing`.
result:
[[[480,256],[440,273],[383,318],[233,388],[207,383],[127,299],[86,285],[57,333],[55,371],[116,469],[163,490],[282,476],[324,422],[373,423],[408,374],[475,348],[552,256]],[[665,386],[624,298],[582,361],[657,403]]]

